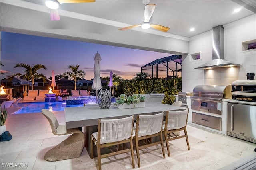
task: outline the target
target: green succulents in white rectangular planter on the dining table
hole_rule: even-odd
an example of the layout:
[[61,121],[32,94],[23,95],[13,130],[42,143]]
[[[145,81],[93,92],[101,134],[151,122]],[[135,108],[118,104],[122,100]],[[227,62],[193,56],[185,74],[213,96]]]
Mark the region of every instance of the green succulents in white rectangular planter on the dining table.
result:
[[118,98],[116,98],[115,106],[118,109],[128,109],[128,108],[137,108],[137,107],[145,107],[145,96],[141,94],[132,94],[130,96],[126,96],[125,94],[120,94]]

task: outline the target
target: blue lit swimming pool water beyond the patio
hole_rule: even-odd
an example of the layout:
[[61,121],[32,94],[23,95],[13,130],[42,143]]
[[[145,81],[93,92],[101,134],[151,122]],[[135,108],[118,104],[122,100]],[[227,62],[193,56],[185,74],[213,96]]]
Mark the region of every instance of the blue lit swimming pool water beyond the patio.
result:
[[[41,113],[42,109],[48,109],[50,111],[64,111],[66,107],[65,102],[35,102],[35,103],[18,103],[18,107],[22,107],[14,114],[24,113]],[[81,107],[83,105],[72,105],[67,107]]]

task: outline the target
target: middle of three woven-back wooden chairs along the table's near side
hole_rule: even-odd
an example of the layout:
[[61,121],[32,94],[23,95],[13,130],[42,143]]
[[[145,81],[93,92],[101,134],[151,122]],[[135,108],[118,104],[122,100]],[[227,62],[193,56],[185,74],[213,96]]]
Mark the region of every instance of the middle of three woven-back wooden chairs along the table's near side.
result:
[[[136,122],[136,127],[134,127],[135,131],[133,132],[133,139],[135,141],[139,167],[140,167],[140,154],[139,154],[140,149],[161,144],[163,156],[165,158],[164,142],[162,137],[163,119],[164,119],[163,112],[154,114],[154,115],[137,115],[137,122]],[[146,139],[146,141],[148,141],[147,140],[148,138],[152,139],[152,137],[157,137],[157,136],[160,137],[160,141],[156,141],[152,143],[152,140],[151,140],[150,143],[144,142],[144,145],[141,145],[141,146],[138,145],[138,141],[141,141],[143,139]]]

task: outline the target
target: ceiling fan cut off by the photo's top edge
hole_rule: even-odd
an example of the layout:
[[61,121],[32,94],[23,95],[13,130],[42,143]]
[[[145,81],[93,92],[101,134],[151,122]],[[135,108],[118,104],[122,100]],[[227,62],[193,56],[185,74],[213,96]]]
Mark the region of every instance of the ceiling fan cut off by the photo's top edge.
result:
[[51,9],[51,20],[60,20],[60,15],[58,13],[58,8],[60,4],[72,4],[72,3],[87,3],[95,2],[95,0],[46,0],[45,5]]

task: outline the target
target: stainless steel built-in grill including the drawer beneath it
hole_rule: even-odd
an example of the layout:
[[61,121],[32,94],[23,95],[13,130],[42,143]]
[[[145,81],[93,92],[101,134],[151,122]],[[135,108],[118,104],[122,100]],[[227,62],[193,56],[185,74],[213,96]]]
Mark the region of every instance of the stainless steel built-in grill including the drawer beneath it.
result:
[[[192,123],[222,131],[222,99],[231,98],[231,85],[199,85],[191,99]],[[215,115],[216,114],[216,115]]]

